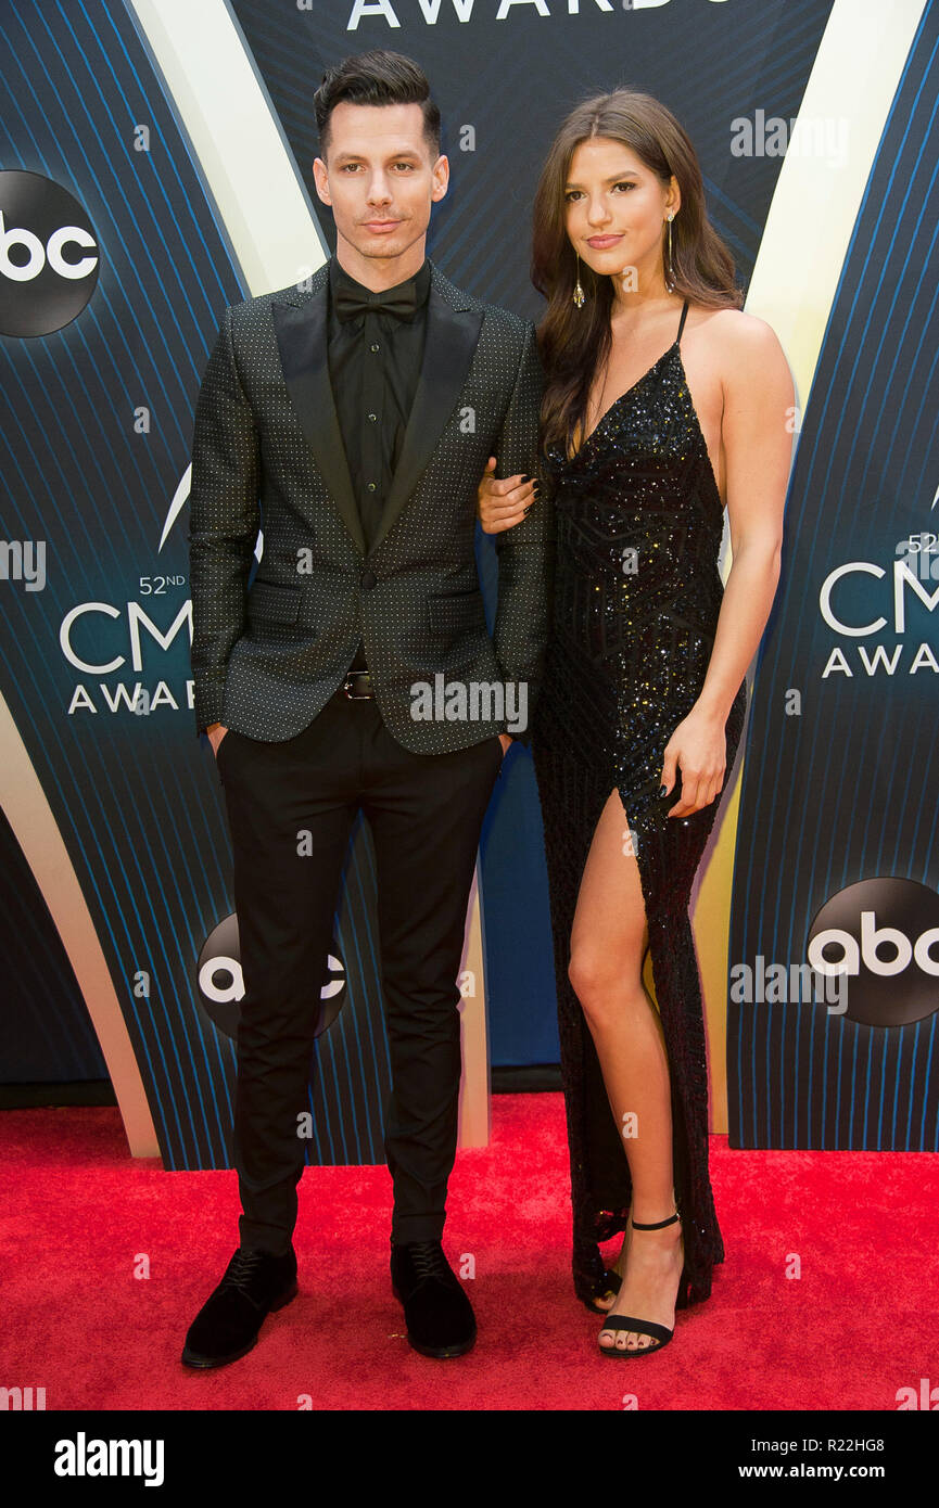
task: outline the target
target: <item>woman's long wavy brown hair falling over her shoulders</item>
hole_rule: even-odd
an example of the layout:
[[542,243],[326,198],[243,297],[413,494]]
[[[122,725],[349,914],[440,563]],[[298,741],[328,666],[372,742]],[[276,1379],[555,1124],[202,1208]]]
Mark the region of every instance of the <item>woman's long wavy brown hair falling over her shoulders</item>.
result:
[[[568,231],[565,185],[574,149],[592,136],[628,146],[669,187],[681,190],[681,210],[672,220],[675,291],[711,309],[740,309],[743,293],[734,282],[734,258],[708,220],[697,155],[682,127],[664,104],[633,89],[583,100],[562,122],[548,151],[534,195],[531,282],[548,300],[537,327],[545,368],[542,445],[560,442],[571,455],[578,427],[587,419],[593,377],[611,347],[613,282],[596,276],[583,261],[580,280],[586,300],[578,309],[572,294],[577,256]],[[663,258],[667,225],[663,222]]]

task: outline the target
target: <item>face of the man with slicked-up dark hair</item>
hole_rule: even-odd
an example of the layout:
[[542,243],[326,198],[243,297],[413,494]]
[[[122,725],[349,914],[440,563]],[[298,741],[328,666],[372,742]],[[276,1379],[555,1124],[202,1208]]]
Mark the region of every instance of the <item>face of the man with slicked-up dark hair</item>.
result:
[[[362,258],[423,261],[430,205],[448,184],[445,157],[432,161],[420,104],[350,104],[329,116],[328,160],[312,164],[341,243]],[[355,256],[352,258],[355,261]]]

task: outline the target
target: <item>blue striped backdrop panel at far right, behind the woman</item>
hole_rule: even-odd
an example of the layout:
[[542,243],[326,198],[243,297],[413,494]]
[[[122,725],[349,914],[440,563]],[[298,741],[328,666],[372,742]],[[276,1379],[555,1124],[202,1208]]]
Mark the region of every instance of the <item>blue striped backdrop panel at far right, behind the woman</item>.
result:
[[[879,929],[915,926],[910,942],[939,924],[930,603],[939,603],[939,555],[928,549],[939,477],[937,100],[933,6],[870,175],[802,425],[749,730],[731,971],[755,970],[758,956],[764,973],[770,962],[808,962],[823,908],[857,942],[864,909]],[[912,905],[897,879],[918,887]],[[936,942],[933,973],[910,958],[880,974],[862,958],[844,1012],[808,979],[794,998],[732,1003],[731,1145],[934,1152]],[[880,967],[901,953],[882,946]],[[909,1019],[913,997],[921,1006]]]

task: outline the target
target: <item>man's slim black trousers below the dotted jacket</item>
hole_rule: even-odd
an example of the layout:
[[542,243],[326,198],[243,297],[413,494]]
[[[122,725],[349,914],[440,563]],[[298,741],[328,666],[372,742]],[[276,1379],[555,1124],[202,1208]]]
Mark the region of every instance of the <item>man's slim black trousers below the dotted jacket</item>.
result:
[[[385,1157],[396,1241],[439,1240],[456,1157],[457,1003],[480,829],[503,762],[497,733],[448,754],[412,754],[374,700],[338,691],[293,739],[231,728],[219,745],[234,857],[245,995],[237,1041],[234,1161],[240,1246],[285,1252],[303,1146],[297,1116],[326,979],[334,912],[359,808],[374,843],[393,1092]],[[297,852],[300,834],[309,832]],[[308,851],[308,852],[306,852]]]

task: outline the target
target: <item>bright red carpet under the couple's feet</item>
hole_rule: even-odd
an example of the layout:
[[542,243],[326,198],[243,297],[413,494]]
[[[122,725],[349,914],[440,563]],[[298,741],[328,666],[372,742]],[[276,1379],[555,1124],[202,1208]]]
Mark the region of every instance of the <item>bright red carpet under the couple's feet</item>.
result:
[[939,1158],[714,1137],[714,1292],[660,1357],[617,1365],[571,1288],[560,1095],[497,1095],[492,1116],[492,1145],[457,1154],[444,1238],[476,1259],[469,1356],[403,1338],[386,1170],[308,1169],[299,1297],[249,1356],[193,1374],[180,1351],[237,1244],[236,1173],[134,1161],[116,1110],[6,1111],[0,1383],[44,1386],[47,1410],[895,1410],[939,1384]]

